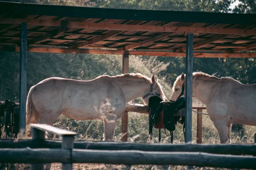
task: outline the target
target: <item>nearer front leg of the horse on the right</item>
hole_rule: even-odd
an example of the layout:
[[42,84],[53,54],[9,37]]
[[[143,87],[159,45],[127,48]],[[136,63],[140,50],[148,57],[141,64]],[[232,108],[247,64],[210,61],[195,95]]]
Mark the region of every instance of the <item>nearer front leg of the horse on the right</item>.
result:
[[218,134],[220,137],[220,142],[221,144],[225,144],[228,142],[228,138],[227,138],[227,124],[225,122],[221,122],[221,121],[213,121],[216,129],[218,130]]

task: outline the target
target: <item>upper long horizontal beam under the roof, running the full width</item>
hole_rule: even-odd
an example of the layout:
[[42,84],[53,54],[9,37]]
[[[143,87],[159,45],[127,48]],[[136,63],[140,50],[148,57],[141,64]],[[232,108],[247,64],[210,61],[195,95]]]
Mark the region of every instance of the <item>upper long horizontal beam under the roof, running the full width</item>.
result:
[[55,26],[67,28],[99,29],[114,31],[149,31],[149,32],[195,32],[202,34],[236,34],[236,35],[256,35],[256,29],[238,28],[212,28],[212,27],[189,27],[189,26],[147,26],[129,24],[107,24],[107,23],[83,23],[59,20],[39,20],[39,19],[19,19],[0,18],[0,24],[20,24],[26,22],[33,26]]

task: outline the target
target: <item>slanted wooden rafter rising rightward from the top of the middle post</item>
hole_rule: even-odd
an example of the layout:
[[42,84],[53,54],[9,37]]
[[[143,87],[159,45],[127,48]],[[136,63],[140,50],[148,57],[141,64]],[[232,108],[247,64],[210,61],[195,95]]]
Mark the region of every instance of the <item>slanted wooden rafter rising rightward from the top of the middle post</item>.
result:
[[170,35],[172,35],[172,33],[163,33],[163,34],[157,35],[155,37],[151,37],[151,38],[148,38],[146,40],[143,40],[141,42],[137,42],[137,43],[134,43],[134,44],[131,44],[131,45],[127,45],[127,46],[125,46],[125,50],[131,50],[131,49],[134,49],[134,48],[137,48],[137,47],[140,47],[140,46],[143,46],[143,45],[161,40],[161,39],[166,38]]

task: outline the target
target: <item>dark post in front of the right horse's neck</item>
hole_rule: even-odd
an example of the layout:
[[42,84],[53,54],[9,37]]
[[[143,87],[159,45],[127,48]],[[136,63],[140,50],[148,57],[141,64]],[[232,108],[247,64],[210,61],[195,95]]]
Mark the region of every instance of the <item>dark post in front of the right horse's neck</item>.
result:
[[192,142],[192,76],[193,73],[193,34],[186,38],[186,88],[185,88],[185,142]]

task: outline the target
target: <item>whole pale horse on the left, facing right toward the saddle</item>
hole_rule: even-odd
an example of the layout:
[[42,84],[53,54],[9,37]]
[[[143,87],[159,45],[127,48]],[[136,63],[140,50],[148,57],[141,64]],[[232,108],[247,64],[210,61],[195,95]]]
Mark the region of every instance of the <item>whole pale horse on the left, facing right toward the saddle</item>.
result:
[[70,119],[102,119],[104,140],[113,140],[118,118],[126,102],[151,96],[166,99],[157,77],[141,74],[100,76],[89,81],[51,77],[32,86],[26,103],[26,124],[51,125],[61,114]]

